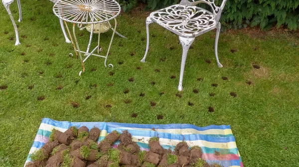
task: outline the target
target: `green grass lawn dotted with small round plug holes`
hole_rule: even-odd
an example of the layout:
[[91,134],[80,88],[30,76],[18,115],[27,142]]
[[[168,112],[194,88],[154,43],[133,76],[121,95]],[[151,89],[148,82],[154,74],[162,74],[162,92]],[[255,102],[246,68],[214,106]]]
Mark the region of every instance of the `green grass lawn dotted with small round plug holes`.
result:
[[[23,166],[44,117],[231,125],[246,167],[299,166],[299,39],[293,34],[223,32],[218,46],[223,68],[218,68],[214,55],[215,32],[197,37],[187,56],[184,90],[178,92],[182,47],[177,35],[150,24],[147,62],[140,62],[149,13],[117,17],[117,29],[128,39],[115,36],[107,61],[114,68],[105,68],[103,58],[91,57],[79,77],[81,63],[68,55],[73,48],[64,42],[53,3],[21,3],[19,46],[11,40],[13,26],[0,7],[0,167]],[[17,20],[16,2],[11,9]],[[85,50],[89,32],[77,33]],[[101,35],[103,53],[111,34]],[[93,45],[96,41],[95,37]],[[38,100],[41,96],[44,99]],[[73,107],[75,103],[79,107]]]

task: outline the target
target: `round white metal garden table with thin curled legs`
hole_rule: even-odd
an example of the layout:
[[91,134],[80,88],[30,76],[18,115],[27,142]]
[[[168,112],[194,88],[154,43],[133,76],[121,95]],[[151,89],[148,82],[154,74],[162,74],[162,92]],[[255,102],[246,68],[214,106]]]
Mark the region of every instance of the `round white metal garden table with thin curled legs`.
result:
[[[111,44],[114,38],[114,34],[116,32],[116,16],[120,13],[121,7],[119,3],[115,0],[58,0],[54,6],[53,6],[53,12],[54,14],[63,19],[64,23],[66,25],[67,31],[69,33],[69,36],[71,38],[71,42],[73,44],[74,50],[76,52],[76,55],[81,59],[83,71],[80,71],[79,76],[81,76],[82,72],[85,71],[84,62],[91,56],[98,56],[105,58],[104,65],[107,67],[106,62],[109,54],[109,50],[111,48]],[[115,25],[114,28],[112,28],[112,25],[110,24],[109,20],[114,19]],[[67,26],[67,22],[73,23],[73,37],[70,33],[70,30]],[[90,28],[90,38],[89,43],[87,46],[86,52],[83,52],[79,48],[78,40],[75,33],[75,25],[78,24],[78,27],[82,27],[82,25],[86,24],[87,26],[91,26]],[[113,29],[113,34],[110,40],[109,48],[107,50],[106,56],[98,55],[102,48],[100,48],[100,34],[101,34],[101,24],[103,25],[109,25],[111,29]],[[94,33],[95,26],[98,27],[98,45],[91,51],[91,40]],[[74,43],[75,41],[75,43]],[[75,45],[76,44],[76,45]],[[94,52],[97,50],[98,54],[94,54]],[[84,53],[86,58],[83,60],[81,53]],[[108,65],[109,67],[113,67],[112,64]]]

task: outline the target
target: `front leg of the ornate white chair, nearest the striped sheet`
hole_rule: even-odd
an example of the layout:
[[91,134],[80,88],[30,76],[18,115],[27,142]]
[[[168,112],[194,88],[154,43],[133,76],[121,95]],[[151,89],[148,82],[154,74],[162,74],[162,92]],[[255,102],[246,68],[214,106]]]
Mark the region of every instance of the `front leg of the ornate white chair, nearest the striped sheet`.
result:
[[181,62],[181,70],[180,70],[180,75],[179,75],[179,83],[178,83],[178,91],[183,90],[183,76],[184,76],[184,69],[185,69],[185,63],[186,63],[186,58],[187,58],[187,53],[189,50],[189,47],[193,43],[195,38],[184,38],[184,37],[178,37],[180,43],[182,44],[183,47],[183,54],[182,54],[182,62]]

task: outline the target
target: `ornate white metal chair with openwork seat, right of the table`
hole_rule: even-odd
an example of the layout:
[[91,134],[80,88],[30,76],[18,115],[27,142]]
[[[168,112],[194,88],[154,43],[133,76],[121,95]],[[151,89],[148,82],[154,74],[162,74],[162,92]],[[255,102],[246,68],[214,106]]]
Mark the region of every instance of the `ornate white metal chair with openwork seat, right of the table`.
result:
[[[180,77],[178,90],[182,91],[183,75],[187,52],[195,37],[217,29],[215,40],[215,55],[218,67],[223,67],[218,59],[217,46],[221,24],[219,22],[221,12],[227,0],[223,0],[220,7],[215,5],[215,0],[181,0],[179,4],[171,5],[150,13],[147,18],[147,49],[141,62],[146,61],[149,51],[149,24],[156,22],[162,27],[179,36],[179,41],[183,47]],[[196,6],[199,3],[206,3],[212,8],[212,12]]]

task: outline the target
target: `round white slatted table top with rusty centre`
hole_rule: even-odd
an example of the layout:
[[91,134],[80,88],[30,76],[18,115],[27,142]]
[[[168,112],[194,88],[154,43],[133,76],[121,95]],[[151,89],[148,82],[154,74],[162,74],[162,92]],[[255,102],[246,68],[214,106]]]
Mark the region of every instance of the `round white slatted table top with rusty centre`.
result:
[[115,0],[57,0],[54,14],[68,22],[97,24],[115,18],[121,11]]

